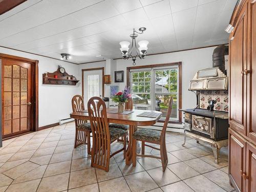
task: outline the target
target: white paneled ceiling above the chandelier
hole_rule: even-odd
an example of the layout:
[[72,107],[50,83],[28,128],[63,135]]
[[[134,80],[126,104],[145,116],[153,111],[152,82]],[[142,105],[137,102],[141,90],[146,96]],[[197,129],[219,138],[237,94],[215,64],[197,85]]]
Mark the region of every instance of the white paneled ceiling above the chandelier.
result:
[[[0,15],[0,46],[83,63],[120,58],[146,27],[147,54],[226,44],[237,0],[29,0]],[[102,55],[102,57],[96,57]]]

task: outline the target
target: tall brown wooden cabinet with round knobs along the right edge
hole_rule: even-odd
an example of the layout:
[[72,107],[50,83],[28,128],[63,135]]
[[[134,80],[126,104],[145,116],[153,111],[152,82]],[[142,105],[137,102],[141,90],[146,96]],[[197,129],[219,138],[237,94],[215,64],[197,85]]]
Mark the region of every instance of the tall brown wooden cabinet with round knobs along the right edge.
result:
[[256,191],[256,0],[235,8],[229,36],[229,178]]

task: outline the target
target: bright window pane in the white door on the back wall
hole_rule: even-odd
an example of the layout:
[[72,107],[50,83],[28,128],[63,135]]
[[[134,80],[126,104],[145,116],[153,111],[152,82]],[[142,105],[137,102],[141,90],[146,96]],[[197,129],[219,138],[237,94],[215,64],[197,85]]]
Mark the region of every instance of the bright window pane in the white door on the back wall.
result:
[[99,75],[88,75],[87,82],[87,98],[99,95]]

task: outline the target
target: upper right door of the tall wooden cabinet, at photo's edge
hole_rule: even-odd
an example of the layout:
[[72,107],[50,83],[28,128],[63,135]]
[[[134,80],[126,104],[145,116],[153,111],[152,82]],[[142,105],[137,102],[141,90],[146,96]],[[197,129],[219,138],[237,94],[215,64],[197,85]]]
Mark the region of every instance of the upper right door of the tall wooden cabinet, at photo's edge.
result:
[[250,1],[248,11],[248,35],[250,35],[248,42],[248,47],[250,51],[250,54],[248,54],[248,70],[250,70],[250,73],[247,75],[248,126],[246,136],[253,140],[254,144],[256,144],[256,3],[252,2],[254,1]]

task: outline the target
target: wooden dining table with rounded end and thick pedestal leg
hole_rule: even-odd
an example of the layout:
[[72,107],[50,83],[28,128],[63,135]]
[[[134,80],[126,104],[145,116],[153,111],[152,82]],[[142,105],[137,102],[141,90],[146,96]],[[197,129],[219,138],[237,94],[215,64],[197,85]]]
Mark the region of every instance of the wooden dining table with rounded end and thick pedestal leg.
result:
[[[109,123],[119,123],[119,124],[126,124],[129,125],[129,144],[126,150],[126,157],[125,163],[126,165],[131,165],[132,157],[133,157],[133,146],[132,146],[132,136],[134,132],[137,130],[138,126],[150,126],[154,125],[162,116],[162,113],[159,111],[150,111],[150,110],[125,110],[125,111],[133,111],[130,114],[119,114],[119,113],[109,113],[113,111],[113,108],[107,108],[106,113],[108,117]],[[157,113],[157,117],[140,117],[138,115],[142,114],[143,112],[153,112]],[[70,114],[71,118],[74,119],[82,119],[82,120],[89,120],[88,111],[80,111],[80,112],[73,112]]]

